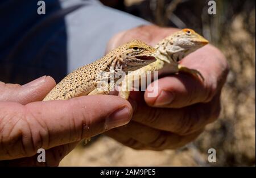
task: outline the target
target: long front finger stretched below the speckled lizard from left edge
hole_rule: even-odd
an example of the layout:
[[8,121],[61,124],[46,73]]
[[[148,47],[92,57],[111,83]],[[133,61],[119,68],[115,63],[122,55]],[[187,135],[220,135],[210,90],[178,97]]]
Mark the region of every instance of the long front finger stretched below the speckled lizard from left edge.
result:
[[68,101],[20,105],[0,102],[0,159],[22,158],[125,125],[132,107],[117,96],[84,96]]

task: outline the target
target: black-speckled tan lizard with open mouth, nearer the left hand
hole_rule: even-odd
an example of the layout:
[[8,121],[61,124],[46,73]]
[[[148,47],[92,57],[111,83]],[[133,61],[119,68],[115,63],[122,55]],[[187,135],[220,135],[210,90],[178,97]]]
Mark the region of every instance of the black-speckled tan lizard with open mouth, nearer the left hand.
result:
[[[127,74],[128,71],[135,71],[156,61],[155,57],[151,56],[154,52],[154,48],[139,40],[121,45],[94,63],[84,65],[68,74],[47,94],[43,101],[109,94],[113,89],[113,83],[109,83],[111,68],[114,73],[123,71]],[[118,79],[119,77],[115,76],[114,82]],[[103,89],[99,89],[97,85],[102,80],[106,82],[103,82]]]

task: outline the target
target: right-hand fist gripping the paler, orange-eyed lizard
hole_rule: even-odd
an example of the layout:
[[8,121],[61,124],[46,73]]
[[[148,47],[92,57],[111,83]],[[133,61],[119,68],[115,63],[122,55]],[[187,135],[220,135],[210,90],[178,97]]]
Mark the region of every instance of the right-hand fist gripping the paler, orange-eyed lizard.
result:
[[[109,42],[107,51],[132,39],[152,46],[177,31],[174,28],[141,26],[120,32]],[[158,85],[152,82],[146,92],[132,92],[132,121],[106,134],[135,149],[164,150],[184,146],[194,140],[205,125],[215,121],[220,113],[220,94],[228,74],[225,57],[212,45],[206,45],[180,62],[197,69],[205,80],[179,73],[162,77]],[[158,96],[149,97],[158,88]]]

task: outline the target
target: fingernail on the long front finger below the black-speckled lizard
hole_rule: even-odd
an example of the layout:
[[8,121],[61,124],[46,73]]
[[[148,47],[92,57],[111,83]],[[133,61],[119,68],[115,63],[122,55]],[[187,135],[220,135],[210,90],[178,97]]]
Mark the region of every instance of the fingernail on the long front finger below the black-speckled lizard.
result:
[[123,107],[117,111],[114,111],[105,121],[105,129],[113,129],[128,123],[131,119],[130,110],[127,107]]

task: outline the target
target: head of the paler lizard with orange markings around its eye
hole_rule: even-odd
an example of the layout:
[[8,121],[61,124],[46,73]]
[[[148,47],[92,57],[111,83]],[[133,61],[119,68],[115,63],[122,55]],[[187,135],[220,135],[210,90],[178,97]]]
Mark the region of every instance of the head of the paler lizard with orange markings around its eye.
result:
[[208,40],[192,29],[184,28],[163,39],[156,45],[156,49],[169,60],[171,56],[177,62],[208,43]]

